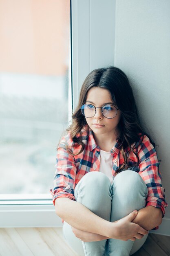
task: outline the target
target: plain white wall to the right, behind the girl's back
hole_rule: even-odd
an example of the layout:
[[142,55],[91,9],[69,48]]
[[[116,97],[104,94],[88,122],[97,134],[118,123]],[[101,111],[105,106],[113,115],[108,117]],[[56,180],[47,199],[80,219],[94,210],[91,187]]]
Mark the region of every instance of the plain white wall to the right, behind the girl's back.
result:
[[159,145],[170,218],[170,1],[117,0],[115,67],[130,78],[139,113]]

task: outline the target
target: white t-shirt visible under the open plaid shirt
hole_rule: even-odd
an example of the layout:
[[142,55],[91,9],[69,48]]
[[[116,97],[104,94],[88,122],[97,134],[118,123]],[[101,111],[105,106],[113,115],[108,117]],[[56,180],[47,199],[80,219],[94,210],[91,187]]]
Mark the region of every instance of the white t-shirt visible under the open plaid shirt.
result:
[[110,151],[104,151],[100,149],[100,167],[99,171],[101,173],[104,173],[106,176],[108,176],[110,183],[112,184],[113,182],[113,175],[112,175],[112,155],[110,154]]

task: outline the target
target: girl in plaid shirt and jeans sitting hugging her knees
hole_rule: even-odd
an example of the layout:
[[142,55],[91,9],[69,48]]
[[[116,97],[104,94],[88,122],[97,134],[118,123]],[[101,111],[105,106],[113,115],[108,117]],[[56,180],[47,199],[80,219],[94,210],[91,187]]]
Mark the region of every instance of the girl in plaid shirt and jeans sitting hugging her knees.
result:
[[155,143],[140,124],[124,72],[88,74],[66,132],[50,190],[66,242],[79,255],[133,254],[158,229],[168,204]]

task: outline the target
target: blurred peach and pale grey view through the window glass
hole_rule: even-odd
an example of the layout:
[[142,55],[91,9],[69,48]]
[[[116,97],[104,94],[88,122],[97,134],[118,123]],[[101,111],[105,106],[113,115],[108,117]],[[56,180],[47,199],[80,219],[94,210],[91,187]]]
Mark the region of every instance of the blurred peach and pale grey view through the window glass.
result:
[[70,1],[0,0],[0,194],[49,194],[70,73]]

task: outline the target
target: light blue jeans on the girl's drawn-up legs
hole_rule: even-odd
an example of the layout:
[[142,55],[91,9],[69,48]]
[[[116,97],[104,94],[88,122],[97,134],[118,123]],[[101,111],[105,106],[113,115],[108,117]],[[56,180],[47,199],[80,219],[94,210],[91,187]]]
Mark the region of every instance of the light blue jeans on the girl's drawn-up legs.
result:
[[[134,210],[146,206],[148,188],[139,173],[131,170],[117,174],[110,183],[101,172],[86,173],[75,187],[75,200],[99,217],[114,222]],[[77,212],[77,214],[79,214]],[[106,239],[83,242],[75,237],[71,225],[64,221],[63,235],[79,256],[128,256],[137,252],[145,243],[147,235],[135,241]]]

